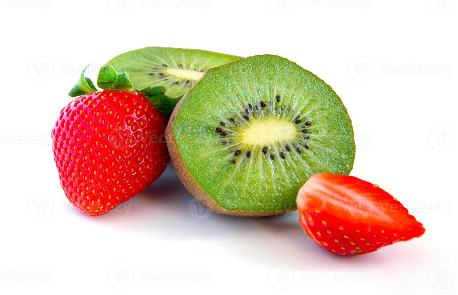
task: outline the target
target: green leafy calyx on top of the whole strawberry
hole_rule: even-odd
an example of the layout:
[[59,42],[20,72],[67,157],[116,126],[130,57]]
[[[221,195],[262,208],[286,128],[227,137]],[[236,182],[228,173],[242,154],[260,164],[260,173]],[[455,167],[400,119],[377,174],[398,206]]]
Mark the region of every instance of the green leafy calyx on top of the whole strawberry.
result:
[[[89,94],[98,91],[91,79],[84,76],[84,72],[87,67],[82,71],[78,82],[68,93],[71,97],[78,97],[85,94]],[[132,89],[132,83],[126,73],[118,73],[109,64],[104,65],[100,68],[97,77],[97,86],[104,90],[115,90],[115,91],[135,91],[143,94],[148,102],[150,102],[155,109],[170,117],[175,105],[180,101],[181,97],[169,97],[165,95],[164,86],[148,86],[143,89]]]

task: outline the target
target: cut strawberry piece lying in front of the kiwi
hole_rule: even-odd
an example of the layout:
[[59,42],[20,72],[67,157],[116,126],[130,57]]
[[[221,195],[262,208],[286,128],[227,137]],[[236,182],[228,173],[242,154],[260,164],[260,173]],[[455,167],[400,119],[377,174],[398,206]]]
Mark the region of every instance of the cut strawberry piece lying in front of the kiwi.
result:
[[359,178],[320,173],[300,188],[300,224],[320,247],[340,255],[373,252],[425,232],[389,193]]

